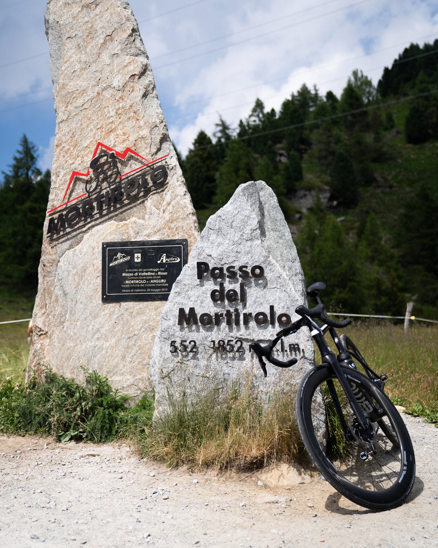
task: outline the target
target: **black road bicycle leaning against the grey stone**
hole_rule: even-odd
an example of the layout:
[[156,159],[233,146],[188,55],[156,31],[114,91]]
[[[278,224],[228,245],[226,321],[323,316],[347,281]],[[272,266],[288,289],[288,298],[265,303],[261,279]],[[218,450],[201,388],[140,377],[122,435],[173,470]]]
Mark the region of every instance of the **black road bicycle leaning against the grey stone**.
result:
[[[387,375],[377,375],[347,336],[335,327],[346,327],[351,319],[335,322],[327,316],[319,292],[322,282],[307,288],[316,306],[298,306],[301,316],[281,329],[268,345],[251,343],[264,376],[263,358],[278,367],[291,367],[272,356],[278,341],[298,329],[310,329],[321,364],[304,375],[298,387],[296,415],[299,432],[310,458],[322,476],[356,504],[374,510],[399,506],[411,492],[415,458],[411,438],[399,412],[384,393]],[[323,324],[315,321],[318,318]],[[336,356],[324,334],[330,333],[339,352]]]

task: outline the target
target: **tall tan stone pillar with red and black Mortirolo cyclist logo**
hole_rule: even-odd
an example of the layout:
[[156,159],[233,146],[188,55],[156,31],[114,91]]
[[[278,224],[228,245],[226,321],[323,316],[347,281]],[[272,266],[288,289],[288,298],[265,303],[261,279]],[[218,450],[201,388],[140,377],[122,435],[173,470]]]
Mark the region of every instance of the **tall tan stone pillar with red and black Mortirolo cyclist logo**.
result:
[[198,222],[128,2],[49,0],[45,29],[56,138],[29,366],[139,394],[165,302],[102,302],[102,244],[191,250]]

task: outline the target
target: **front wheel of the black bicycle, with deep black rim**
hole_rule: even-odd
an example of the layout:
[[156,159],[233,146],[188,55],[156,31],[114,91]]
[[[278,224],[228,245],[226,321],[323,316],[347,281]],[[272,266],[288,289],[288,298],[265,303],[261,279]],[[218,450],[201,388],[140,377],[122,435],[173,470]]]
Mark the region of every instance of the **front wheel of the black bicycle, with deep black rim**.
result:
[[[345,368],[345,375],[350,383],[365,391],[384,410],[385,415],[381,420],[391,426],[399,446],[395,447],[382,429],[379,432],[378,423],[374,423],[376,455],[368,455],[366,460],[360,458],[360,453],[363,455],[368,452],[370,446],[366,447],[350,434],[353,431],[351,424],[348,426],[349,436],[353,439],[345,437],[343,430],[336,427],[338,415],[336,409],[330,407],[330,391],[324,387],[327,380],[331,379],[337,385],[336,390],[340,402],[343,402],[341,407],[347,425],[354,415],[333,369],[327,364],[310,369],[298,388],[296,416],[304,446],[321,475],[346,498],[373,510],[395,508],[406,500],[415,479],[411,438],[399,412],[373,381],[354,369]],[[350,417],[345,416],[346,414],[350,414]],[[338,454],[333,447],[338,448]],[[339,454],[339,448],[342,448],[344,455]]]

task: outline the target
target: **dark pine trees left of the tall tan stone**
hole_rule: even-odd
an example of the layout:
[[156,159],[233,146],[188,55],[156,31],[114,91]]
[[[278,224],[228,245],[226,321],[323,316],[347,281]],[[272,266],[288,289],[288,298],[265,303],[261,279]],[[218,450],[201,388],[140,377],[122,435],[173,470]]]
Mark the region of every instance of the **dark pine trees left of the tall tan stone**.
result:
[[0,282],[36,289],[50,172],[37,168],[36,146],[23,135],[0,186]]

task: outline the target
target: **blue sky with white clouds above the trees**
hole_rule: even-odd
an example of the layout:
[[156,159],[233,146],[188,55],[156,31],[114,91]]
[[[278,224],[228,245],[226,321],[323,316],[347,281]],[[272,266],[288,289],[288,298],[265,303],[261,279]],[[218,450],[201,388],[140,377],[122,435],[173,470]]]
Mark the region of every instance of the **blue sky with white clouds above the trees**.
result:
[[[53,158],[45,4],[0,0],[0,170],[8,170],[23,133],[37,145],[42,168],[50,168]],[[257,96],[278,109],[304,82],[339,95],[354,68],[377,84],[406,45],[438,37],[435,0],[171,0],[164,9],[159,0],[130,4],[170,136],[183,153],[200,129],[212,134],[220,114],[237,125]]]

